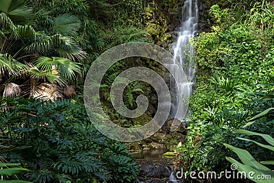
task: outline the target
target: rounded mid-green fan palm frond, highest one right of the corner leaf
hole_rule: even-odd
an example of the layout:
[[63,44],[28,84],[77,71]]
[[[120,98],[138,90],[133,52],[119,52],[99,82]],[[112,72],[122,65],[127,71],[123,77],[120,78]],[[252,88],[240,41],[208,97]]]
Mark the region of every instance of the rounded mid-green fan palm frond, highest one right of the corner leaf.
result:
[[75,36],[81,27],[81,21],[72,14],[60,14],[54,19],[49,19],[53,32],[64,36]]

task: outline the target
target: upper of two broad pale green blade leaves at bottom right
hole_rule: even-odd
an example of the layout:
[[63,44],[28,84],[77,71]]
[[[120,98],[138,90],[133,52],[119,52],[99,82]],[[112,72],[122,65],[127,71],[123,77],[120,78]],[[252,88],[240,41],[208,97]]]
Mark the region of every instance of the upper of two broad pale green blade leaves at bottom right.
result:
[[[228,144],[224,144],[224,145],[228,147],[229,149],[232,149],[232,151],[234,151],[238,155],[238,157],[243,162],[243,164],[248,165],[252,167],[253,169],[260,170],[261,172],[264,172],[264,173],[273,173],[271,169],[265,167],[264,165],[260,164],[257,160],[255,160],[251,156],[251,154],[249,154],[249,151],[245,149],[240,149]],[[274,178],[274,173],[273,173],[273,178]]]

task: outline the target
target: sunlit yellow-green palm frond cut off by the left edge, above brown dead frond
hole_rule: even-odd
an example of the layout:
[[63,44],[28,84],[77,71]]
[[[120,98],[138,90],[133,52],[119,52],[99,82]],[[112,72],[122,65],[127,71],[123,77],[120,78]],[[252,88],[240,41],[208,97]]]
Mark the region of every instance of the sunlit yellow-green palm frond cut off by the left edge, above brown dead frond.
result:
[[1,75],[20,75],[27,69],[25,64],[18,62],[17,60],[12,59],[7,53],[0,53],[0,73]]

